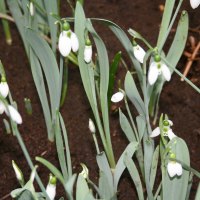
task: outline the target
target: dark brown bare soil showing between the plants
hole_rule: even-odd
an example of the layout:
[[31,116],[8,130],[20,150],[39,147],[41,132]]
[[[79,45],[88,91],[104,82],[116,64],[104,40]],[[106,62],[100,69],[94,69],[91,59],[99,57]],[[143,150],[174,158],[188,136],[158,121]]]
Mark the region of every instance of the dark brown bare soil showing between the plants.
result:
[[[70,16],[67,1],[63,1],[62,16]],[[162,12],[159,5],[161,0],[85,0],[85,12],[88,17],[100,17],[114,21],[124,30],[133,28],[140,32],[154,46],[156,44],[159,24]],[[188,10],[190,16],[190,28],[200,25],[200,8],[192,10],[189,1],[185,1],[183,8]],[[101,25],[95,26],[98,33],[103,37],[109,50],[110,60],[115,53],[121,50],[121,45],[113,37],[113,34]],[[23,44],[14,24],[11,25],[13,44],[8,46],[4,40],[2,26],[0,26],[0,59],[2,60],[7,74],[13,99],[17,101],[19,111],[23,117],[23,124],[19,126],[20,132],[27,149],[34,160],[35,156],[43,155],[44,158],[57,164],[57,156],[53,143],[47,141],[47,133],[43,120],[42,109],[33,83],[29,63],[26,58]],[[199,33],[189,32],[199,41]],[[124,55],[126,58],[126,55]],[[127,60],[129,64],[129,61]],[[184,70],[186,58],[182,57],[178,65],[180,71]],[[117,78],[123,80],[125,70],[120,66]],[[200,87],[200,61],[194,62],[188,75],[190,80]],[[26,114],[24,98],[31,99],[33,115]],[[169,115],[174,122],[173,130],[188,144],[191,156],[191,166],[200,170],[200,95],[188,84],[180,81],[180,77],[173,75],[172,81],[164,87],[160,99],[160,112]],[[88,130],[88,118],[92,117],[87,98],[81,83],[79,70],[70,66],[68,96],[62,108],[62,114],[66,122],[69,136],[69,145],[72,156],[74,173],[80,172],[80,163],[85,163],[90,172],[91,180],[97,181],[98,168],[95,161],[95,148],[92,136]],[[5,117],[5,116],[3,116]],[[120,130],[118,114],[111,115],[111,134],[116,160],[127,145],[127,140]],[[13,135],[7,135],[2,118],[0,120],[0,200],[11,199],[5,196],[13,189],[19,187],[11,161],[15,160],[22,169],[26,180],[31,173],[24,155]],[[36,163],[36,162],[35,162]],[[49,171],[39,166],[38,172],[44,180],[48,181]],[[191,198],[194,199],[198,179],[194,179]],[[60,185],[58,184],[58,187]],[[61,187],[60,187],[61,188]],[[58,197],[62,190],[59,189]],[[5,198],[4,198],[5,197]],[[125,173],[119,187],[119,199],[137,199],[133,184]]]

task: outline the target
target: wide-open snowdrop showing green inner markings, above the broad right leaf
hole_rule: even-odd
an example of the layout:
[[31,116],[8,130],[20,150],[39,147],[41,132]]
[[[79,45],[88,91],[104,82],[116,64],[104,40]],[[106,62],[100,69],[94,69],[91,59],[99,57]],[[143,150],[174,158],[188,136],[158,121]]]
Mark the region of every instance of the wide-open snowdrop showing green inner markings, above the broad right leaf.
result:
[[[173,122],[171,120],[164,120],[162,132],[164,136],[168,136],[169,139],[172,140],[174,137],[176,137],[176,135],[173,133],[170,126],[173,126]],[[157,127],[152,131],[150,137],[156,137],[160,135],[160,133],[161,133],[160,127]]]

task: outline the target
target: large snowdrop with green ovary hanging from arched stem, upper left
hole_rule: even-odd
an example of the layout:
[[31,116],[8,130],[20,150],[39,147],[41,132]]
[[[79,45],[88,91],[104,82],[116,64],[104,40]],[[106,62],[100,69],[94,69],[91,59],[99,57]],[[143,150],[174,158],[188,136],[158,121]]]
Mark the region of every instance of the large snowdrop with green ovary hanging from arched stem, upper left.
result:
[[63,24],[63,31],[60,33],[58,39],[58,49],[63,57],[67,57],[71,50],[77,52],[79,49],[79,42],[76,34],[71,31],[69,23]]

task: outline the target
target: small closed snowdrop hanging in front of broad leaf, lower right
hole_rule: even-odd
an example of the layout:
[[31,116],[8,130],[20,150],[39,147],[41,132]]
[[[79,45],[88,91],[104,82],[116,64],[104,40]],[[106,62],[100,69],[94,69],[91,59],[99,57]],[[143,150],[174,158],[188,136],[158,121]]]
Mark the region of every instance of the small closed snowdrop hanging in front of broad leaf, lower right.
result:
[[[175,154],[170,154],[170,158],[175,159],[176,155]],[[183,168],[182,165],[176,161],[169,161],[167,164],[167,171],[168,174],[171,178],[173,178],[174,176],[181,176],[183,173]]]

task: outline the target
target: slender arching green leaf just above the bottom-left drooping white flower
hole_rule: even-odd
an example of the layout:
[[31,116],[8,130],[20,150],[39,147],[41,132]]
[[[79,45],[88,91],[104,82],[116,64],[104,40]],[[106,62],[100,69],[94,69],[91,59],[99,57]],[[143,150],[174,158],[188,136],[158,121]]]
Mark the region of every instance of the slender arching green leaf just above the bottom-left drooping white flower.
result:
[[56,178],[63,184],[63,186],[65,186],[64,178],[61,172],[53,164],[42,157],[36,157],[35,160],[46,166],[51,171],[51,173],[56,176]]

